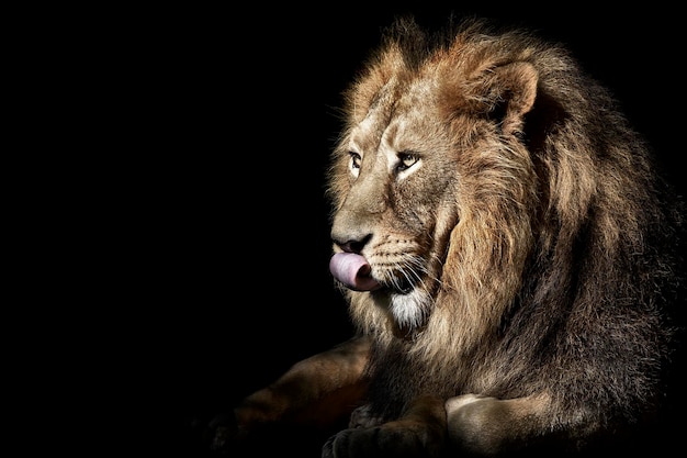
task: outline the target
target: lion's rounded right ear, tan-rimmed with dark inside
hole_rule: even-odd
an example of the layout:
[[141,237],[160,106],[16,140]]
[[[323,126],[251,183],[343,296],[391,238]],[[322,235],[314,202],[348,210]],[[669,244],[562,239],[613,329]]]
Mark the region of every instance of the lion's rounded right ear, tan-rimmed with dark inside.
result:
[[539,77],[529,63],[498,66],[483,74],[476,100],[485,114],[500,123],[502,132],[513,134],[522,127],[522,118],[534,105]]

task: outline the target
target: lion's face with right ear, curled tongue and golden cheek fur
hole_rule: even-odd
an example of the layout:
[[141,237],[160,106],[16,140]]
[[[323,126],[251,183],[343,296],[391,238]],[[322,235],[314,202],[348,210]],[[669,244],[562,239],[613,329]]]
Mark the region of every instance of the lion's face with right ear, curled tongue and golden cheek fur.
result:
[[519,136],[537,76],[480,54],[457,67],[459,53],[408,64],[392,46],[348,92],[329,183],[335,252],[350,255],[330,267],[363,325],[383,310],[421,327],[442,294],[478,322],[518,287],[540,193]]

